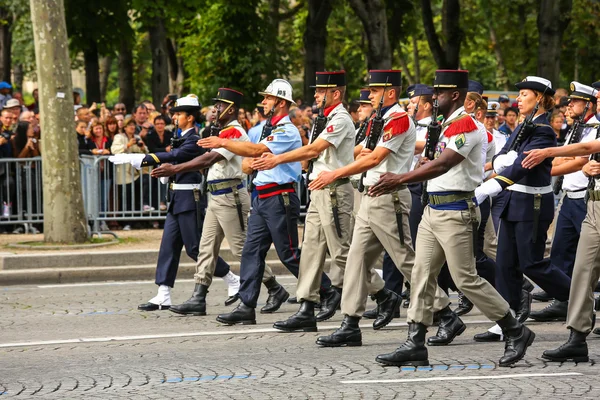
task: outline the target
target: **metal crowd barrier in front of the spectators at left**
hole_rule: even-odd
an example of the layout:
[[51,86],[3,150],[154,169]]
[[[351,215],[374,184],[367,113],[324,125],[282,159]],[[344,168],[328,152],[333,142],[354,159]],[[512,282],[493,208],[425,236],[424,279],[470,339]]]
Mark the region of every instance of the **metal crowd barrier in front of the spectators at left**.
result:
[[[114,165],[108,157],[79,157],[90,234],[115,235],[108,229],[110,221],[129,225],[164,220],[168,206],[167,185],[150,177],[152,167],[138,171],[129,164]],[[303,183],[297,187],[300,214],[304,217],[308,191]],[[41,229],[44,222],[41,157],[0,159],[0,202],[0,225],[16,230],[22,228],[23,232],[35,232],[36,225]]]

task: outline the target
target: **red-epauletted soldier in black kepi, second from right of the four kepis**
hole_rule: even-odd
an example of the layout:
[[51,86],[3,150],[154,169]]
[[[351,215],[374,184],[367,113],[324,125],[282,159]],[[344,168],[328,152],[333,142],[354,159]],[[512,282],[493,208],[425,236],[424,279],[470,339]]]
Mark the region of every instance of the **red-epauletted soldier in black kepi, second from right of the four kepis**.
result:
[[[363,198],[356,216],[344,273],[344,320],[333,334],[317,339],[317,344],[321,346],[362,345],[358,323],[365,311],[369,294],[378,304],[379,316],[373,322],[373,327],[380,329],[392,320],[400,297],[384,288],[383,280],[374,269],[377,256],[382,250],[389,253],[404,277],[410,281],[414,260],[408,223],[410,193],[404,187],[380,198],[367,195],[368,188],[377,182],[381,174],[408,171],[410,168],[416,134],[412,120],[398,105],[401,85],[401,73],[398,70],[369,71],[369,98],[371,104],[377,109],[381,108],[378,113],[384,124],[375,149],[367,150],[367,141],[363,141],[355,149],[357,158],[353,163],[333,171],[322,171],[309,185],[311,190],[319,190],[338,179],[365,173]],[[373,122],[371,127],[372,125]],[[372,133],[369,129],[367,140]]]

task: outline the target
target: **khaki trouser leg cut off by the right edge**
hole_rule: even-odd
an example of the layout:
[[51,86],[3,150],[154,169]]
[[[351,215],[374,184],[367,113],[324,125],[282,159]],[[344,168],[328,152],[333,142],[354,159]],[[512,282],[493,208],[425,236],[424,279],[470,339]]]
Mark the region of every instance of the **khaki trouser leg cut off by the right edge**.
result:
[[600,278],[600,201],[588,201],[581,224],[573,278],[569,294],[567,327],[579,332],[592,330],[594,289]]

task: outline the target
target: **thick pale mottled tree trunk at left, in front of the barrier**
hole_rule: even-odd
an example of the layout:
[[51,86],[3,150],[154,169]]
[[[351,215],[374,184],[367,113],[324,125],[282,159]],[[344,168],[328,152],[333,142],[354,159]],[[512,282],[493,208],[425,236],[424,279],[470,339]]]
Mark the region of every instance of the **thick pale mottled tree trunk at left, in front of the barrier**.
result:
[[63,0],[30,0],[40,98],[44,241],[87,238]]

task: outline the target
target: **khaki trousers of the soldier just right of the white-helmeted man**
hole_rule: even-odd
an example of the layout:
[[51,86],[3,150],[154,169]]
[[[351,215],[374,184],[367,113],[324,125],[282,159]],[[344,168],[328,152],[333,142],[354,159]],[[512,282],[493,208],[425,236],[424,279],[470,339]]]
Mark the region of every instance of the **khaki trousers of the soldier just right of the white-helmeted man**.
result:
[[298,286],[296,287],[296,297],[299,301],[307,300],[314,303],[320,301],[321,275],[328,250],[331,257],[330,270],[343,271],[346,267],[350,249],[350,219],[352,218],[354,194],[350,183],[338,186],[335,191],[342,231],[341,238],[337,234],[333,220],[330,189],[314,190],[310,194],[310,205],[304,222]]

